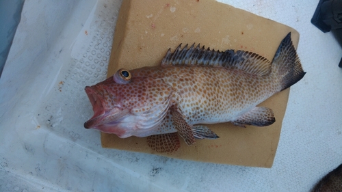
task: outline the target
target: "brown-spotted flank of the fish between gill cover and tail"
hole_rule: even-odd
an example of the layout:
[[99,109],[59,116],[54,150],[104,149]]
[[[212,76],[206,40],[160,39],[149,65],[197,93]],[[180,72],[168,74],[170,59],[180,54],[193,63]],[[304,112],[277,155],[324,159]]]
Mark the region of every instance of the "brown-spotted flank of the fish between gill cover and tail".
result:
[[137,78],[148,74],[170,85],[172,103],[178,105],[188,124],[236,120],[235,117],[246,113],[256,102],[262,102],[281,88],[272,83],[275,81],[272,77],[241,70],[227,72],[222,67],[142,68],[131,73]]

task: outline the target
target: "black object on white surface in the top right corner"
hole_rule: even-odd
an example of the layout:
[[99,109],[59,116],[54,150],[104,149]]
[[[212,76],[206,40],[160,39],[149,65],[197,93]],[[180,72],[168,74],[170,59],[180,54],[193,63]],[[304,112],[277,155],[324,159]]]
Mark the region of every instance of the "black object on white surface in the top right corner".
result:
[[[342,46],[342,0],[319,0],[311,23],[324,33],[332,30]],[[341,62],[340,68],[342,68]]]

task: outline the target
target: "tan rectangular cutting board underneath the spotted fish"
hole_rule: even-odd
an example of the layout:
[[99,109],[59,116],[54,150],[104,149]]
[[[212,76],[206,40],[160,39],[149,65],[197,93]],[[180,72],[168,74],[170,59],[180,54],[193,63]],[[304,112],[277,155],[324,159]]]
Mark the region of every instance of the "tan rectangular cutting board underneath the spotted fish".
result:
[[[171,48],[194,42],[211,49],[252,51],[272,60],[282,38],[291,31],[295,47],[299,33],[273,20],[213,0],[124,0],[115,29],[108,67],[108,77],[119,68],[129,70],[157,66]],[[271,126],[213,124],[209,128],[220,138],[196,140],[172,154],[159,154],[177,159],[272,167],[282,118],[285,115],[289,89],[280,92],[260,106],[274,110],[276,122]],[[116,148],[158,154],[150,150],[146,138],[120,139],[101,133],[104,148]]]

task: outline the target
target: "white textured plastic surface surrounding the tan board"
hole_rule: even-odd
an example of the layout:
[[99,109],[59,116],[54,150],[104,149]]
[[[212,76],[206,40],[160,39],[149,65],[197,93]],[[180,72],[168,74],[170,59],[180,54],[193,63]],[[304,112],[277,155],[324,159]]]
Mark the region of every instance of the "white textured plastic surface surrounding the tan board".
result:
[[101,148],[84,85],[105,79],[120,0],[27,0],[0,79],[0,191],[309,191],[342,163],[342,49],[316,1],[223,1],[300,32],[274,166],[216,165]]

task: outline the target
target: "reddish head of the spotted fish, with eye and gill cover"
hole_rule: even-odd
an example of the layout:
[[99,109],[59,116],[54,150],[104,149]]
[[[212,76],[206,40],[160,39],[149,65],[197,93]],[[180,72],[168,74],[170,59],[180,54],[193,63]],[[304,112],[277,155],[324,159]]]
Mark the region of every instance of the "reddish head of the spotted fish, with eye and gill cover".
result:
[[121,138],[145,137],[165,116],[169,97],[165,94],[165,85],[142,77],[125,79],[128,74],[121,77],[121,72],[118,70],[113,77],[86,86],[94,115],[84,127],[114,133]]

